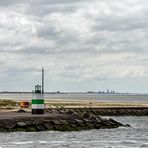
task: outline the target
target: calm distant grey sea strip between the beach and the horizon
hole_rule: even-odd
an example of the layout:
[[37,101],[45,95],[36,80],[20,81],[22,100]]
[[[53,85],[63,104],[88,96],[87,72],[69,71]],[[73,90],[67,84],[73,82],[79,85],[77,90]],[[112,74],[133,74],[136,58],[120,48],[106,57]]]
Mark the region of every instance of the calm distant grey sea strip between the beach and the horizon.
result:
[[[146,102],[148,94],[83,94],[83,93],[45,93],[47,100],[96,100],[102,102]],[[0,99],[31,100],[32,93],[0,93]]]

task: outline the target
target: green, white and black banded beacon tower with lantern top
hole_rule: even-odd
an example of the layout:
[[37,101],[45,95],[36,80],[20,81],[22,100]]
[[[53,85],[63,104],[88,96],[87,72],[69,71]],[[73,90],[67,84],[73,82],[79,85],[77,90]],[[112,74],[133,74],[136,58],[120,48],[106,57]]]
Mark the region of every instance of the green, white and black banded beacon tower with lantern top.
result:
[[44,114],[44,93],[41,86],[35,86],[35,93],[32,94],[32,114]]

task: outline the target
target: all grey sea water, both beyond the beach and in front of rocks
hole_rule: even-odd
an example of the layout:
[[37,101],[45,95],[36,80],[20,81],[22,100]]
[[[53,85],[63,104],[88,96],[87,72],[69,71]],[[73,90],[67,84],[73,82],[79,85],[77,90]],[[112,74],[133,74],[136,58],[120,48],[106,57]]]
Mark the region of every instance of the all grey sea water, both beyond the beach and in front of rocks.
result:
[[[29,99],[31,94],[0,94],[1,98]],[[46,99],[82,99],[148,103],[147,94],[46,94]],[[103,117],[110,118],[110,117]],[[131,127],[79,132],[0,133],[0,148],[148,148],[148,116],[111,117]]]

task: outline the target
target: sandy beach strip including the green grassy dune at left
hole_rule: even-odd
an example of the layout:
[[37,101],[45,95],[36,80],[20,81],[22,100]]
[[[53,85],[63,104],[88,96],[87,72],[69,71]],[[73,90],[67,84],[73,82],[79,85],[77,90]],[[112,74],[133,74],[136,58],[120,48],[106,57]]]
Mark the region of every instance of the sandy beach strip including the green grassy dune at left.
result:
[[[31,101],[27,101],[31,107]],[[0,99],[0,108],[15,109],[20,108],[22,100],[13,101],[7,99]],[[148,103],[144,102],[99,102],[95,100],[45,100],[45,108],[120,108],[120,107],[148,107]]]

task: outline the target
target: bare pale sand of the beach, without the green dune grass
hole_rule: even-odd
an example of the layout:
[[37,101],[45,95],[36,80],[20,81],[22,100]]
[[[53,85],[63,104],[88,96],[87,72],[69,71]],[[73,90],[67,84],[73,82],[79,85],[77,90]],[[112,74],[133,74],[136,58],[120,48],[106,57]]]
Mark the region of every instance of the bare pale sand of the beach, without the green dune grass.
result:
[[[24,100],[28,101],[28,100]],[[22,102],[18,100],[17,103]],[[31,101],[30,101],[31,104]],[[100,102],[96,100],[45,100],[45,108],[120,108],[120,107],[148,107],[148,103],[144,102]],[[0,112],[16,111],[20,106],[0,107]],[[31,106],[27,111],[31,110]]]

